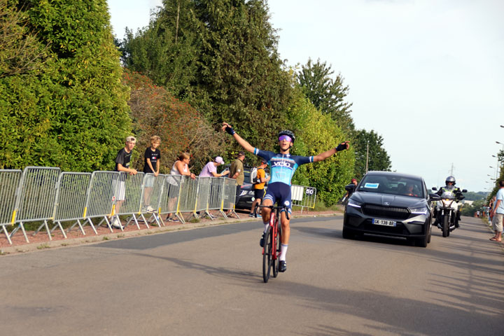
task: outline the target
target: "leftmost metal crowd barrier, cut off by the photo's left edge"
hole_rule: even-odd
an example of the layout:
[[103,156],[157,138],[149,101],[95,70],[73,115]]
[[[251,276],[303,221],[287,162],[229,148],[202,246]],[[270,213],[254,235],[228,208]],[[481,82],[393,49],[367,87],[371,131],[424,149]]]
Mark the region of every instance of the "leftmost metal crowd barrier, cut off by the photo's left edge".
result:
[[14,225],[15,223],[15,204],[21,176],[20,170],[4,169],[0,171],[0,233],[3,231],[10,245],[12,245],[12,241],[6,225]]

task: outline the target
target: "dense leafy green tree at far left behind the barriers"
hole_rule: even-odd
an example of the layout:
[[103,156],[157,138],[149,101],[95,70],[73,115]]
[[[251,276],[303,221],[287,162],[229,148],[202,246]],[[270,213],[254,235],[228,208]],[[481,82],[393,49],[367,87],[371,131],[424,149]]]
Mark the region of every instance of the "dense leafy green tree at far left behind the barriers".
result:
[[0,78],[0,168],[111,169],[131,120],[106,0],[8,3],[46,59]]

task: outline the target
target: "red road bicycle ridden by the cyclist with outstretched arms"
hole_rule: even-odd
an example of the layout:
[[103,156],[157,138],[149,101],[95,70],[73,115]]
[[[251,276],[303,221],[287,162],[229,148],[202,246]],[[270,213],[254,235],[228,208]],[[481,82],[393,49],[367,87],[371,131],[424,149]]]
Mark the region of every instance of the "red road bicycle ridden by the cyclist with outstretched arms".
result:
[[262,279],[267,283],[269,275],[273,269],[273,277],[276,278],[279,272],[279,258],[281,252],[281,219],[280,211],[285,210],[286,218],[288,216],[288,207],[274,207],[273,205],[255,205],[254,214],[257,214],[258,208],[269,208],[269,227],[265,232],[264,247],[262,248]]

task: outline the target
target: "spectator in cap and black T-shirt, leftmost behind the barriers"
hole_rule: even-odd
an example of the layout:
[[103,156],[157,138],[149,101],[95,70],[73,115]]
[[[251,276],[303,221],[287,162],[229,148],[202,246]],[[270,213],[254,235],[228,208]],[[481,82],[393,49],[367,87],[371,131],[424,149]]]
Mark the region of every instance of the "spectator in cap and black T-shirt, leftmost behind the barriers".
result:
[[[130,168],[130,161],[131,161],[131,155],[133,152],[133,148],[137,144],[137,139],[135,137],[127,137],[126,142],[125,142],[125,147],[121,148],[121,150],[118,152],[118,155],[116,157],[116,168],[114,169],[116,172],[121,172],[123,174],[120,174],[119,176],[119,181],[118,181],[118,188],[117,190],[117,195],[116,195],[116,212],[119,211],[120,207],[123,205],[123,202],[125,201],[125,181],[127,178],[127,175],[136,175],[137,170]],[[119,217],[114,216],[112,220],[112,226],[113,228],[120,229],[123,228]]]

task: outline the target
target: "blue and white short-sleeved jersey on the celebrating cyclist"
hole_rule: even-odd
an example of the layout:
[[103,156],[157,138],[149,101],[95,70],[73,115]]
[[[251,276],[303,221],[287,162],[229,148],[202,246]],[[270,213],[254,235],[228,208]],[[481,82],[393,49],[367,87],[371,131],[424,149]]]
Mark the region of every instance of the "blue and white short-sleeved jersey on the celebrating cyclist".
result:
[[313,156],[296,156],[261,151],[254,148],[254,155],[258,155],[267,161],[270,167],[271,180],[269,183],[281,182],[290,186],[290,180],[294,176],[295,169],[305,163],[314,162]]

